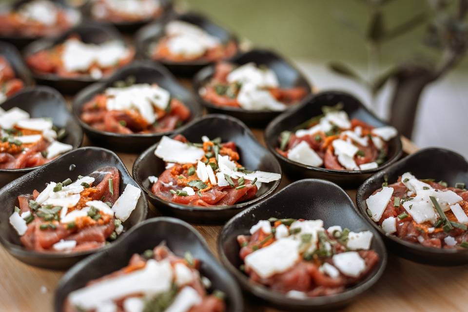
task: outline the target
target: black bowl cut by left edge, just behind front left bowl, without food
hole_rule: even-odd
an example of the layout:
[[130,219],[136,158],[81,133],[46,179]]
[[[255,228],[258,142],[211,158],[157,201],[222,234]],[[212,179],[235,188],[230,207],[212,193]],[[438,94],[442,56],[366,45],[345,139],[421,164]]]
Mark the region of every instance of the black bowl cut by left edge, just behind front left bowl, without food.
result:
[[[61,141],[74,149],[81,145],[83,131],[67,109],[65,99],[56,90],[49,87],[27,87],[7,98],[0,107],[9,110],[18,107],[28,112],[31,117],[49,117],[59,128],[65,128],[67,136]],[[59,156],[61,157],[61,156]],[[0,169],[0,187],[39,167],[21,169]]]

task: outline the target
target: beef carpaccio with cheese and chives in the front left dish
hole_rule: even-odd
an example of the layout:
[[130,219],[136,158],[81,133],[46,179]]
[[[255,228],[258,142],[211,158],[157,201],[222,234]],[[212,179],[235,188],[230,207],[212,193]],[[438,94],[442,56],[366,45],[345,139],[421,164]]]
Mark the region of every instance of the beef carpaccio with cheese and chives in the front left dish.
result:
[[141,190],[127,184],[119,196],[120,174],[106,166],[72,181],[50,182],[44,190],[18,196],[10,224],[22,245],[37,252],[78,252],[104,246],[123,231]]

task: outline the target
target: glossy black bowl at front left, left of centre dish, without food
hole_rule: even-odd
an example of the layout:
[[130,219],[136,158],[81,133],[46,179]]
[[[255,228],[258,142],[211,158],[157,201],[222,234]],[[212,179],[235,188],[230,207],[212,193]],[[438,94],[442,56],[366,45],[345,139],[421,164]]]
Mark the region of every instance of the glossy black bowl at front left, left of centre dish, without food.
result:
[[[72,166],[75,165],[75,166]],[[118,244],[120,234],[116,242],[104,247],[76,253],[40,253],[25,249],[20,242],[20,236],[10,225],[8,218],[13,212],[13,207],[18,205],[18,195],[31,194],[33,190],[43,190],[45,183],[50,181],[63,181],[67,178],[76,178],[78,175],[87,175],[104,166],[117,167],[120,173],[120,195],[127,184],[137,186],[123,162],[116,154],[98,147],[82,147],[68,152],[57,160],[48,163],[39,169],[30,172],[15,181],[7,184],[0,190],[0,200],[3,203],[0,210],[0,243],[13,256],[27,264],[41,268],[64,270],[77,263],[89,254],[98,251],[106,251],[114,244]],[[143,221],[148,213],[148,202],[144,192],[138,199],[137,208],[123,223],[124,230],[128,230],[137,223]]]

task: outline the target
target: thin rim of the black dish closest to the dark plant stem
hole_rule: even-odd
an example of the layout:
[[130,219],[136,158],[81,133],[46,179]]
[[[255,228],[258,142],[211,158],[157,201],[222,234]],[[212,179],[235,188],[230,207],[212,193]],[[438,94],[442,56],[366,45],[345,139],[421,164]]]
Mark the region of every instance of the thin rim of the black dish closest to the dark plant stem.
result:
[[[314,97],[317,97],[317,96],[320,96],[324,93],[334,93],[334,94],[345,94],[347,96],[350,96],[352,98],[354,98],[353,96],[351,96],[349,93],[346,93],[344,91],[325,91],[325,92],[321,92],[321,93],[317,93],[317,94],[311,94],[309,95],[307,98],[304,98],[303,102],[300,103],[299,105],[297,105],[296,107],[294,108],[291,108],[291,110],[288,110],[287,112],[285,112],[284,114],[281,114],[280,116],[274,118],[267,126],[267,128],[265,129],[265,132],[263,133],[263,137],[265,138],[265,144],[267,145],[268,149],[270,150],[270,152],[273,153],[274,156],[276,156],[277,158],[281,159],[282,161],[285,161],[289,164],[292,164],[292,165],[295,165],[295,166],[299,166],[299,167],[302,167],[304,169],[308,169],[308,170],[312,170],[312,171],[317,171],[317,172],[324,172],[324,173],[332,173],[332,174],[338,174],[338,175],[360,175],[360,174],[372,174],[372,173],[376,173],[376,172],[379,172],[385,168],[388,168],[390,165],[394,164],[398,158],[400,158],[402,155],[403,155],[403,146],[402,146],[402,142],[401,142],[401,135],[400,135],[400,132],[398,132],[398,140],[397,140],[397,145],[396,145],[396,153],[394,156],[392,156],[390,159],[388,159],[387,161],[385,161],[382,165],[379,165],[377,168],[375,169],[368,169],[368,170],[336,170],[336,169],[327,169],[327,168],[322,168],[322,167],[314,167],[314,166],[308,166],[308,165],[305,165],[305,164],[301,164],[300,162],[296,162],[296,161],[292,161],[291,159],[289,158],[286,158],[285,156],[279,154],[278,152],[276,152],[276,149],[275,147],[271,146],[270,144],[268,144],[268,136],[267,134],[269,132],[271,132],[272,128],[274,126],[276,126],[278,123],[281,123],[283,121],[283,119],[285,119],[286,117],[290,117],[292,116],[294,113],[296,113],[296,111],[298,111],[299,109],[301,109],[302,107],[306,106],[309,104],[309,101],[314,98]],[[359,103],[361,103],[359,101]],[[381,121],[382,123],[386,124],[385,122],[383,122],[382,120],[380,120],[377,116],[375,116],[366,106],[362,105],[361,103],[361,107],[368,113],[370,114],[371,117]],[[388,124],[386,124],[388,125]]]

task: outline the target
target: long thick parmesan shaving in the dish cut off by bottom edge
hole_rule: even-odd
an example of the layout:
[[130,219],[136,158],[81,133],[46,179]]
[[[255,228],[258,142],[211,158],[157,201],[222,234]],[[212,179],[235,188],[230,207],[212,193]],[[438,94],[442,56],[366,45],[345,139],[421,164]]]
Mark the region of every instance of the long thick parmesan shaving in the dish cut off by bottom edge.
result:
[[156,295],[171,289],[173,271],[168,260],[149,259],[143,269],[105,279],[71,292],[70,304],[85,310],[135,293]]

